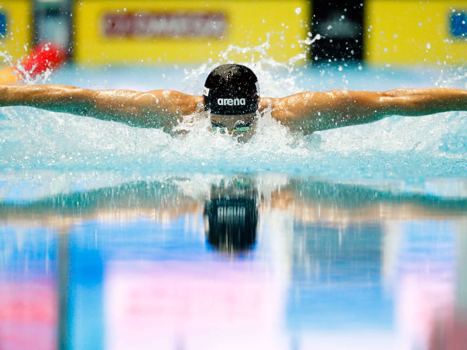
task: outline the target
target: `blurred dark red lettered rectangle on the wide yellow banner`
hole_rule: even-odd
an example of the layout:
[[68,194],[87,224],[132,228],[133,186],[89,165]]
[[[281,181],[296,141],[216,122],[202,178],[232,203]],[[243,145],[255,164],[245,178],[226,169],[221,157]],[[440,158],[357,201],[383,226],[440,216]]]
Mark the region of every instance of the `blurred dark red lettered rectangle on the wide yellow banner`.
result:
[[102,21],[107,37],[220,37],[227,28],[220,12],[107,13]]

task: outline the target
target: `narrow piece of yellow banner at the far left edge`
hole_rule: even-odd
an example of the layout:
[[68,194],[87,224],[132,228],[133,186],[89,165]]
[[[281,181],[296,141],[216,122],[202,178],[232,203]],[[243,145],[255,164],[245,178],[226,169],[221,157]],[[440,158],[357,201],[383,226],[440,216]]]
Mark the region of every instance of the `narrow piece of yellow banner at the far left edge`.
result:
[[31,2],[30,0],[0,2],[0,51],[13,56],[14,60],[22,57],[32,48]]

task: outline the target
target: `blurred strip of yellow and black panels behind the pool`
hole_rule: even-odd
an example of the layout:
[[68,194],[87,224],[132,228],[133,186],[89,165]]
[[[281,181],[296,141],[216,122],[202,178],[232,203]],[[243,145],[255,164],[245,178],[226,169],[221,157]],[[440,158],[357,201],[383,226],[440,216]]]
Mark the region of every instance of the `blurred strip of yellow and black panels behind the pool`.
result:
[[[316,40],[310,40],[310,39]],[[0,51],[51,42],[79,65],[463,64],[467,1],[1,0]]]

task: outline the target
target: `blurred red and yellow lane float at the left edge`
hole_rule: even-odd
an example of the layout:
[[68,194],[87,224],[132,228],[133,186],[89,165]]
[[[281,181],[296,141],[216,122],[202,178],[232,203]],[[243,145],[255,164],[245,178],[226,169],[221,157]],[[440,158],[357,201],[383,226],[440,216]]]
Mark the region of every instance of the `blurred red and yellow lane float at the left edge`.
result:
[[63,50],[52,43],[36,45],[32,52],[14,67],[0,69],[0,84],[18,84],[22,80],[34,79],[48,69],[54,69],[63,63]]

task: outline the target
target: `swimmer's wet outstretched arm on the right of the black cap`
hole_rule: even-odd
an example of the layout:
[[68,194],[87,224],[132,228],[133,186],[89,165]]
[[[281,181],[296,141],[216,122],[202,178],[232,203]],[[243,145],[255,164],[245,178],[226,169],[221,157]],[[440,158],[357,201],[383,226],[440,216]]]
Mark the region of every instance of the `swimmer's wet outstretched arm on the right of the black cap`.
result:
[[278,99],[262,99],[261,105],[271,105],[272,116],[292,131],[311,133],[371,123],[389,115],[420,116],[467,111],[467,90],[431,88],[386,92],[301,92]]

